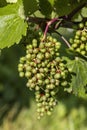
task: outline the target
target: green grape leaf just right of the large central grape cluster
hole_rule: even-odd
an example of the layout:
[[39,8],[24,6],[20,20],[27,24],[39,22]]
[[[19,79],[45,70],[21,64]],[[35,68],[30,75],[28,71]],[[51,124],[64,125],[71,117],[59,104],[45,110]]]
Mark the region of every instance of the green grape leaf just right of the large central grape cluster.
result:
[[87,98],[86,85],[87,85],[87,61],[76,57],[75,60],[68,64],[69,68],[75,75],[72,76],[71,87],[75,95]]

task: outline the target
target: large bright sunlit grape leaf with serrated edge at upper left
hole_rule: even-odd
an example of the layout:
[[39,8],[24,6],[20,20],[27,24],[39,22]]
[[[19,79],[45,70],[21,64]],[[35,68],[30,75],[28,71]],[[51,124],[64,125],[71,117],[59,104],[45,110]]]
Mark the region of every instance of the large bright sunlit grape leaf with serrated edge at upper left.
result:
[[0,48],[19,43],[22,35],[26,35],[27,23],[22,0],[0,8]]

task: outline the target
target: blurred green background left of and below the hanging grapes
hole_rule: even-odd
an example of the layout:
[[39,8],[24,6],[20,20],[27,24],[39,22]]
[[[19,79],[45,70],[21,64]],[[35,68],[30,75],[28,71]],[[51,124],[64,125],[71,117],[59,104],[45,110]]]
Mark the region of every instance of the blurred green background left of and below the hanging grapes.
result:
[[87,101],[67,93],[51,116],[37,120],[34,94],[17,71],[24,50],[19,44],[0,55],[0,130],[87,130]]

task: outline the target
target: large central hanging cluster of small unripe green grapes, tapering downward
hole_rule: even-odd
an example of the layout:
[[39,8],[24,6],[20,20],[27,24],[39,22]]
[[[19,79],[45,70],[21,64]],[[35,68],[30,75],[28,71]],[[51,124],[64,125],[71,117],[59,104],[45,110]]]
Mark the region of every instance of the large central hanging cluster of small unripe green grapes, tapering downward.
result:
[[32,40],[26,46],[26,56],[20,58],[20,77],[27,78],[27,87],[35,91],[38,119],[50,115],[57,104],[56,93],[60,86],[67,86],[68,69],[60,57],[61,43],[47,36],[45,41]]

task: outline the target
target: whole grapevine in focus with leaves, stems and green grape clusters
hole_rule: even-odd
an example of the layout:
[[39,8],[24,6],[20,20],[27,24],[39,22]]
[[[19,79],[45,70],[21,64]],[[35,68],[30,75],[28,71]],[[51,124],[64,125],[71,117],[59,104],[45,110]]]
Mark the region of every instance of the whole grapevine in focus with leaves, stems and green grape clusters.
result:
[[18,71],[34,92],[38,119],[51,115],[61,88],[87,99],[87,0],[6,2],[0,2],[0,51],[25,47]]

